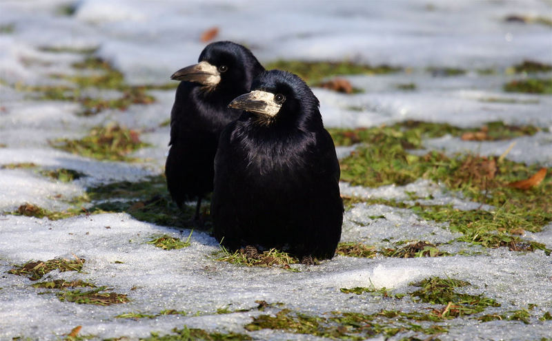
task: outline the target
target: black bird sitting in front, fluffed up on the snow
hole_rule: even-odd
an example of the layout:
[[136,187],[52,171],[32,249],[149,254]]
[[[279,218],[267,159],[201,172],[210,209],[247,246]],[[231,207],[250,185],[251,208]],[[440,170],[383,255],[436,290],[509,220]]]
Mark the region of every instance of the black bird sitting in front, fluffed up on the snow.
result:
[[252,245],[332,258],[343,202],[318,99],[279,70],[260,74],[251,90],[228,105],[244,112],[222,132],[215,157],[215,238],[231,250]]

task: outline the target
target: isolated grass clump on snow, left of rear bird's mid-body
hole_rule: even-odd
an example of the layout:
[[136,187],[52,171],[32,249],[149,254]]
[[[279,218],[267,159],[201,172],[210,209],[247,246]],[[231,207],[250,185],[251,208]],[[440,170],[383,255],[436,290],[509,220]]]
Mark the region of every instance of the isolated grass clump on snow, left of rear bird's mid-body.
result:
[[59,138],[50,144],[73,154],[112,161],[132,161],[128,154],[149,145],[140,141],[136,130],[113,124],[92,128],[88,136],[79,140]]

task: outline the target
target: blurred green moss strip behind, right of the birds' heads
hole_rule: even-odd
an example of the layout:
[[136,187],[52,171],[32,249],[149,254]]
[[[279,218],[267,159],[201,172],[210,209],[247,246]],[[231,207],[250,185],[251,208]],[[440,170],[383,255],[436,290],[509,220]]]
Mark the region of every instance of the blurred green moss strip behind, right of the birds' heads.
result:
[[400,71],[389,65],[362,65],[351,61],[297,61],[280,60],[266,64],[266,70],[279,69],[297,74],[308,83],[313,85],[319,83],[322,79],[329,76],[339,76],[346,74],[387,74]]

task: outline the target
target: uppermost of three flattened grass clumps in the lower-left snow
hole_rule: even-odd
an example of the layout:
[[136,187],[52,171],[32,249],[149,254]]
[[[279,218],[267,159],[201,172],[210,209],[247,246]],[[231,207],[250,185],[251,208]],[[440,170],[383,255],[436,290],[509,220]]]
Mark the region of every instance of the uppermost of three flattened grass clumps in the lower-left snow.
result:
[[36,262],[26,262],[23,265],[17,265],[8,270],[8,273],[17,276],[26,276],[30,280],[39,280],[42,276],[52,270],[65,271],[77,271],[82,270],[85,260],[83,258],[77,258],[75,260],[68,260],[64,258],[50,259],[46,262],[38,260]]

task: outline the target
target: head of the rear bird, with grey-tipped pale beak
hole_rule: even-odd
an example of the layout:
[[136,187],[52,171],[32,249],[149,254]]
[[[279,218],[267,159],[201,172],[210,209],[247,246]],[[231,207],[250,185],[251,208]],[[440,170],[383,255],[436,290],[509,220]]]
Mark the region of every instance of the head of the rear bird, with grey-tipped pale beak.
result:
[[180,69],[170,79],[190,81],[203,85],[206,90],[232,88],[244,91],[253,78],[264,71],[253,53],[242,45],[230,41],[210,43],[199,54],[199,63]]

